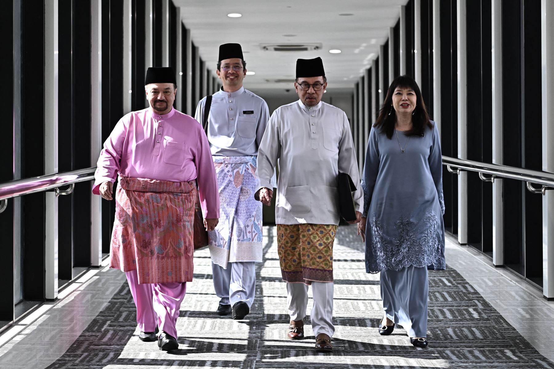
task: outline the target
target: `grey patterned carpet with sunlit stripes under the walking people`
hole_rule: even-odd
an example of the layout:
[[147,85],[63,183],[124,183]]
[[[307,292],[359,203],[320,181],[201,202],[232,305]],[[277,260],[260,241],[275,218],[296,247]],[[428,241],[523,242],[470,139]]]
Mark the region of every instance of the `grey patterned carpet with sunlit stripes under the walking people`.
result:
[[[248,320],[215,314],[209,252],[195,253],[194,281],[178,319],[179,350],[141,342],[135,307],[123,284],[105,309],[49,368],[554,368],[453,269],[429,275],[427,349],[409,344],[401,327],[379,336],[378,275],[365,273],[355,227],[338,229],[335,242],[334,352],[313,351],[314,336],[285,339],[286,290],[280,279],[275,227],[264,229],[264,263]],[[448,262],[448,260],[447,260]],[[309,302],[311,309],[311,298]]]

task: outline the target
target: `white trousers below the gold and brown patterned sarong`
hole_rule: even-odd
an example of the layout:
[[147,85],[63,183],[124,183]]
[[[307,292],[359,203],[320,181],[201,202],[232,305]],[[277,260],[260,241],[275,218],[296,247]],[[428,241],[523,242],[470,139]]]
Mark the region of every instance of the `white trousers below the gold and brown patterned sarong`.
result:
[[[332,337],[335,333],[335,326],[332,323],[334,284],[332,282],[312,281],[311,286],[312,295],[314,295],[314,306],[310,316],[314,335],[317,337],[320,333],[324,333]],[[308,286],[304,283],[287,283],[286,292],[290,319],[304,319],[308,304]]]

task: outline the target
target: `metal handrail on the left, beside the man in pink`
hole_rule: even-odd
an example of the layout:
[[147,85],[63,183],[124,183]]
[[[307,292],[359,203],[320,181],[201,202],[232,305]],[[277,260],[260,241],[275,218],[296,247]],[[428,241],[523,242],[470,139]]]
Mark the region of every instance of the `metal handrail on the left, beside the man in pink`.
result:
[[74,186],[74,183],[94,180],[95,171],[96,167],[84,168],[71,172],[54,173],[51,175],[0,183],[0,200],[35,192],[48,191],[49,189],[69,185],[69,189],[57,191],[59,194],[68,194],[71,193],[70,189]]

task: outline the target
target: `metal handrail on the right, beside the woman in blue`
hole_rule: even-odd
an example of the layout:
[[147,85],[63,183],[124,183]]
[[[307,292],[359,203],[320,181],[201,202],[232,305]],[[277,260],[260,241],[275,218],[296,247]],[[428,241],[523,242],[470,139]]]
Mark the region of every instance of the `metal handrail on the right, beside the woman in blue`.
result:
[[[525,168],[509,167],[506,165],[481,163],[479,161],[471,161],[458,159],[449,156],[443,156],[443,165],[451,173],[460,171],[478,172],[479,178],[483,181],[494,182],[494,178],[508,178],[510,180],[518,180],[527,182],[527,189],[533,193],[545,194],[547,189],[554,189],[554,173],[534,171]],[[458,168],[453,171],[452,168]],[[483,174],[492,175],[491,178],[485,178]],[[535,188],[531,183],[542,184],[542,188]]]

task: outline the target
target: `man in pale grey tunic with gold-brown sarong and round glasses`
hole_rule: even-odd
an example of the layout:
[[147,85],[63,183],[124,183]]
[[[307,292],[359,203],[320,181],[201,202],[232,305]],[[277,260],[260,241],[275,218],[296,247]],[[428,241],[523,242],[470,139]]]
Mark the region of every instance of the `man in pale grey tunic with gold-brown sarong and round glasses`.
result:
[[281,275],[289,304],[289,339],[304,338],[308,286],[314,307],[311,325],[316,351],[331,351],[333,316],[333,242],[339,221],[337,176],[347,173],[360,222],[363,194],[345,112],[321,101],[327,79],[321,58],[296,61],[299,100],[271,115],[258,152],[257,196],[269,205],[270,178],[279,160],[275,207]]

